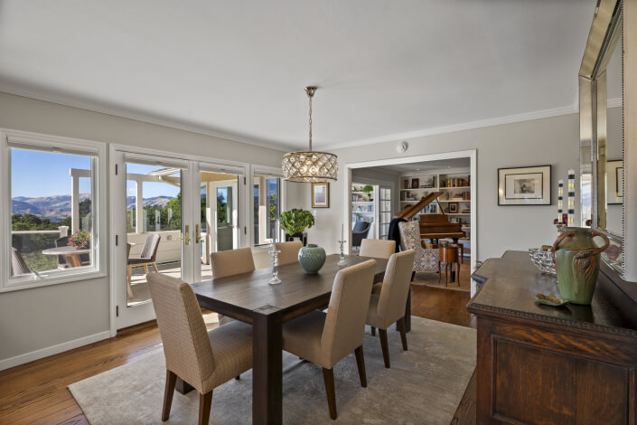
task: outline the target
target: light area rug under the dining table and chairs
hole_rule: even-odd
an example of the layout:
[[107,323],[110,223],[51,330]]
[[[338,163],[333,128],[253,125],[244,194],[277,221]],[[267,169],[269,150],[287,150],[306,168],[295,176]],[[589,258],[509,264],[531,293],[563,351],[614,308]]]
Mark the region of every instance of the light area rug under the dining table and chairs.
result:
[[[283,416],[286,424],[449,424],[475,370],[474,329],[412,317],[408,351],[394,326],[388,332],[391,368],[383,364],[378,336],[366,328],[363,349],[367,388],[353,354],[334,367],[338,419],[330,420],[319,366],[283,354]],[[164,353],[119,366],[69,386],[92,425],[194,424],[198,392],[174,393],[170,419],[162,422]],[[252,417],[252,372],[212,393],[214,424],[247,424]]]

